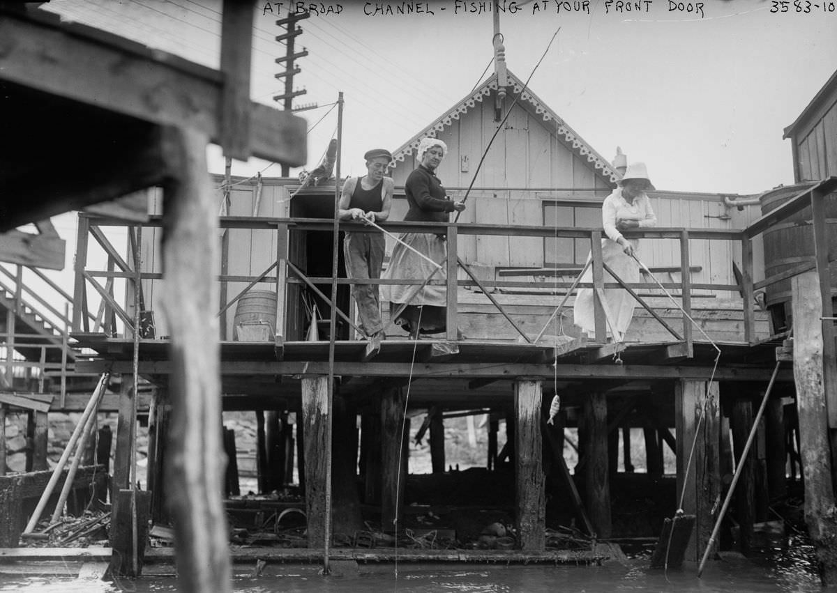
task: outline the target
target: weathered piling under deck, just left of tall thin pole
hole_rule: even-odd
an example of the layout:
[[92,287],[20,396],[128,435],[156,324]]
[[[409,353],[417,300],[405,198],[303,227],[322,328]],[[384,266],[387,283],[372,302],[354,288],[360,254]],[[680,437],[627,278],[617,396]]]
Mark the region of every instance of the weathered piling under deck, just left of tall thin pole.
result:
[[306,451],[306,514],[308,547],[321,548],[326,538],[326,463],[331,448],[326,442],[328,377],[302,378],[302,425]]

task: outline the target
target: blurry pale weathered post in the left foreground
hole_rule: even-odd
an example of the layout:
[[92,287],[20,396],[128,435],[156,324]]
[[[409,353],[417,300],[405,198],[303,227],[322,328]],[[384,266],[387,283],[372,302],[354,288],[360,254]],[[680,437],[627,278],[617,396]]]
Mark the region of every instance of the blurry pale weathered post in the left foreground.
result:
[[[225,3],[225,9],[229,3]],[[208,138],[163,129],[172,179],[164,186],[163,312],[172,336],[172,429],[166,464],[167,501],[175,524],[178,586],[231,590],[223,512],[219,380],[217,204],[206,164]]]

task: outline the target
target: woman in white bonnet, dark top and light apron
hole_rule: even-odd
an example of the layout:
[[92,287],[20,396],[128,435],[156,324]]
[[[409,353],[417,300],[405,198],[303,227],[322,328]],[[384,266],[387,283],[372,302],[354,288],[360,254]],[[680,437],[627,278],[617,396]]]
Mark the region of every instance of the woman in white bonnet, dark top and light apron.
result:
[[[447,151],[448,146],[437,138],[424,138],[419,143],[416,153],[419,166],[410,173],[404,183],[404,193],[409,204],[405,221],[448,222],[450,212],[465,210],[465,202],[451,200],[436,176],[436,168]],[[403,233],[399,239],[436,263],[441,264],[447,257],[444,235]],[[402,243],[396,243],[383,278],[424,281],[435,269],[434,265],[405,248]],[[443,265],[433,279],[445,278]],[[415,285],[384,284],[381,287],[382,300],[392,303],[391,310],[394,313],[401,304],[408,302],[408,297],[415,288]],[[407,307],[394,321],[413,338],[418,338],[419,334],[438,334],[446,330],[446,304],[445,287],[428,284],[409,299]]]

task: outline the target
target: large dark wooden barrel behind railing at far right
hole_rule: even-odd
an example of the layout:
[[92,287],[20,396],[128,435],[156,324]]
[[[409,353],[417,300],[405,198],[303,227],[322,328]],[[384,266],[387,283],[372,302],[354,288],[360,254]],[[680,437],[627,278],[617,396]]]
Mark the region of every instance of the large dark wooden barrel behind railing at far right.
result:
[[[762,214],[773,212],[799,192],[811,187],[813,183],[797,183],[792,186],[778,187],[766,192],[761,197]],[[825,199],[825,218],[829,236],[829,253],[837,252],[837,199],[832,195]],[[814,263],[814,229],[811,227],[811,207],[785,218],[763,233],[764,238],[764,275],[769,279],[778,273],[794,268],[803,263]],[[837,295],[837,264],[831,263],[832,298]],[[790,312],[790,279],[780,280],[765,287],[765,300],[768,307],[782,306]]]

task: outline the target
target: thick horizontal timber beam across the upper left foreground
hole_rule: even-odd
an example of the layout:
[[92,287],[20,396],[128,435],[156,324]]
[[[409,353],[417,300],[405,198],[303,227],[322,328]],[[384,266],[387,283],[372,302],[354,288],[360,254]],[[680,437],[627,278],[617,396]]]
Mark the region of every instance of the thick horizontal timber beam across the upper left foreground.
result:
[[[0,79],[222,141],[224,82],[216,70],[54,18],[5,14],[0,39],[7,49]],[[257,103],[249,116],[249,156],[305,164],[305,120]]]

